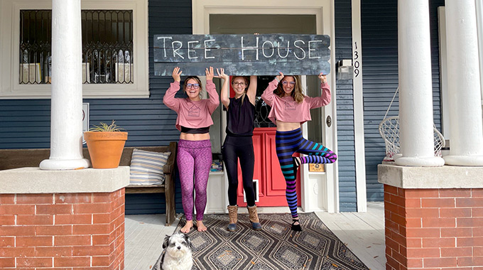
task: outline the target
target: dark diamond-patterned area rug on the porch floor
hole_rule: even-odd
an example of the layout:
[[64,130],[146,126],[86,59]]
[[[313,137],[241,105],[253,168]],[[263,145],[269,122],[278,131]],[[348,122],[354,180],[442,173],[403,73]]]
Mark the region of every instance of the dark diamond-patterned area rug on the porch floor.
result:
[[[369,270],[317,215],[299,215],[302,232],[290,229],[290,214],[259,214],[260,231],[251,229],[247,214],[238,215],[235,232],[227,231],[228,215],[205,215],[207,232],[192,229],[188,234],[194,247],[192,269]],[[158,262],[154,265],[159,270]]]

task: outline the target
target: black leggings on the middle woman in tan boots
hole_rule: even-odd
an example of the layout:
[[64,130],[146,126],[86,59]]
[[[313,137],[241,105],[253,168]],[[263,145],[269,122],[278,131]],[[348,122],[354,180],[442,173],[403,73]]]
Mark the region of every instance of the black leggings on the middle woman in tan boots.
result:
[[228,175],[229,205],[237,205],[238,189],[238,159],[240,160],[241,178],[245,190],[246,204],[255,205],[254,191],[254,143],[251,136],[234,137],[227,135],[222,147],[223,162]]

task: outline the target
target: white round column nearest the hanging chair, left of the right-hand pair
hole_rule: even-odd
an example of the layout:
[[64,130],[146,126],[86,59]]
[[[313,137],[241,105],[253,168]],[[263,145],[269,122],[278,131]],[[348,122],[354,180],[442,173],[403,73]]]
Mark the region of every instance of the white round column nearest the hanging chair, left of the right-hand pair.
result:
[[428,0],[398,1],[399,139],[402,166],[443,166],[434,156]]

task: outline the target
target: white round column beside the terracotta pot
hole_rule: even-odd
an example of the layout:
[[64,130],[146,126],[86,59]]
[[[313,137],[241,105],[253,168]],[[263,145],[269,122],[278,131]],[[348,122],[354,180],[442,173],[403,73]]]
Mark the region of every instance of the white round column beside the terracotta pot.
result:
[[89,167],[82,157],[81,60],[80,0],[53,0],[50,158],[40,169]]

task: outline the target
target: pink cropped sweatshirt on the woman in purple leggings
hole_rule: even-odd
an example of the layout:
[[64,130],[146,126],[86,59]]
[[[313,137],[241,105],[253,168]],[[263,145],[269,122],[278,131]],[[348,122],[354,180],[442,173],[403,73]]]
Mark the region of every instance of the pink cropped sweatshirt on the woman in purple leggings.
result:
[[209,99],[201,99],[193,102],[188,97],[175,98],[178,90],[180,90],[180,82],[171,82],[170,87],[163,97],[163,103],[178,113],[176,129],[181,131],[181,126],[190,129],[211,126],[213,124],[211,114],[215,112],[215,109],[219,105],[219,96],[213,81],[206,81],[206,90],[208,95],[210,95]]

